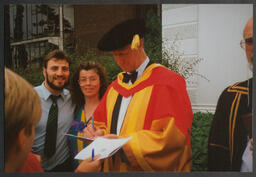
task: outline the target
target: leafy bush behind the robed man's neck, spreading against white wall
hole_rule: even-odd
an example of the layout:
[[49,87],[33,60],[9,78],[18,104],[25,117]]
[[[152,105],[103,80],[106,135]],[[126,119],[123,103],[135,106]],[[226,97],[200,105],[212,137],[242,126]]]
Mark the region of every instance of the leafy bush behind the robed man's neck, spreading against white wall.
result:
[[199,56],[186,59],[184,52],[178,43],[178,36],[167,45],[162,39],[161,19],[153,10],[147,12],[147,33],[144,38],[144,48],[150,60],[160,63],[172,71],[182,75],[185,79],[198,75],[206,80],[204,76],[196,72],[196,66],[203,60]]

